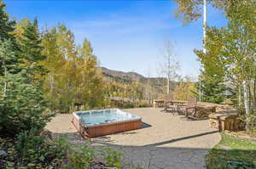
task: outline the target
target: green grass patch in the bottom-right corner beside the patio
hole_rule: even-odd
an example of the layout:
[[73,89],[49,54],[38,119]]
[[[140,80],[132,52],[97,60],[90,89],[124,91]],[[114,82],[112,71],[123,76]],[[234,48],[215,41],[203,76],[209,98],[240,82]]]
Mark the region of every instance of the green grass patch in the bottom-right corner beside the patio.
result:
[[256,141],[234,138],[225,133],[221,133],[221,137],[206,157],[208,169],[256,168]]

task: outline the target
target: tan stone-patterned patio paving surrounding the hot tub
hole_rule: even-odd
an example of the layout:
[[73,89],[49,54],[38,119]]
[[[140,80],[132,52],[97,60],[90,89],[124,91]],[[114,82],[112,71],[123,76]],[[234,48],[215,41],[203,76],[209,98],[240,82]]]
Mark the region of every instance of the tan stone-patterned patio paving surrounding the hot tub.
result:
[[[143,168],[201,169],[205,168],[207,149],[218,144],[218,131],[209,127],[208,120],[190,121],[183,115],[172,115],[157,108],[125,110],[143,118],[143,128],[100,138],[92,138],[94,145],[119,149],[125,163]],[[72,115],[57,115],[47,129],[54,133],[67,133],[73,144],[81,138],[73,124]]]

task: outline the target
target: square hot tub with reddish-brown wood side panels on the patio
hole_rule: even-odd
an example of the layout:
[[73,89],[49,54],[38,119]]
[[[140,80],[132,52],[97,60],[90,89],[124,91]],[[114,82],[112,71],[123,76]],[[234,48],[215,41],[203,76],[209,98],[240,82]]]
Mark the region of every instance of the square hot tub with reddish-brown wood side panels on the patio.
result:
[[73,125],[84,138],[95,138],[142,127],[142,118],[119,109],[73,112]]

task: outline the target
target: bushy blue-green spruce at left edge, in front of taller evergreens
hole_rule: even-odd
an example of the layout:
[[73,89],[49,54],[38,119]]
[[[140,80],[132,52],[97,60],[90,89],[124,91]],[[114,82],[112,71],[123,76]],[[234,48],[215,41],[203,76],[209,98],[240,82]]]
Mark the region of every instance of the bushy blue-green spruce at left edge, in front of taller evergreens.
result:
[[[0,42],[0,58],[2,60],[15,59],[12,42]],[[0,76],[0,132],[10,136],[23,130],[40,131],[49,121],[51,115],[43,115],[46,102],[40,87],[27,83],[27,69],[18,73],[12,69],[20,63],[12,62],[10,69],[5,69],[4,76]]]

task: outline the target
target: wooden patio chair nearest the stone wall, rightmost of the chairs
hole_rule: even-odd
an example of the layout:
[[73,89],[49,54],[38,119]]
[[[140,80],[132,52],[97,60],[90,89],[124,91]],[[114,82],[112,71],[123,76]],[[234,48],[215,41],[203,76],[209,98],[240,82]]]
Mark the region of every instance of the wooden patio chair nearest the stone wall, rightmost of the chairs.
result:
[[187,105],[183,107],[177,106],[177,110],[180,112],[183,112],[183,115],[189,116],[189,115],[195,115],[196,112],[196,99],[195,98],[189,98]]

